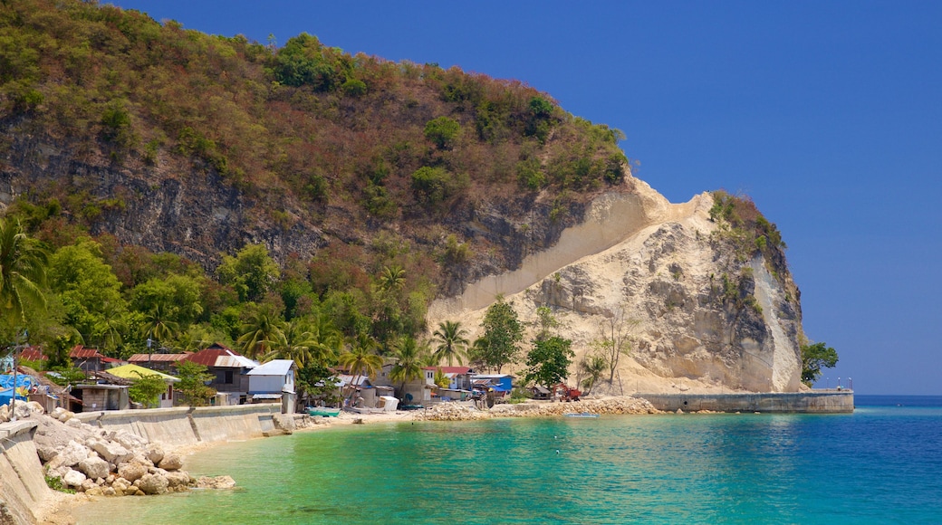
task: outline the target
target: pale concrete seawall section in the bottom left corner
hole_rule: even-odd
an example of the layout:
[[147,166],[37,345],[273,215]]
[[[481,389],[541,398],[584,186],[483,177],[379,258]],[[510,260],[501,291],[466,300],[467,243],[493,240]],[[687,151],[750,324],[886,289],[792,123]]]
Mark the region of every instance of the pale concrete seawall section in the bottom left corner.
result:
[[0,425],[0,523],[35,523],[54,496],[33,444],[37,422]]

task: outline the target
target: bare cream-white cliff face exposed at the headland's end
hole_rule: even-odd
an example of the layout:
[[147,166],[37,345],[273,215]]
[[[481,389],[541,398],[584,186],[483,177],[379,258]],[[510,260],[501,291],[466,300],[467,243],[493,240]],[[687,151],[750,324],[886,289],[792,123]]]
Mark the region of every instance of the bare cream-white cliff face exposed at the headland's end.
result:
[[503,294],[525,322],[550,307],[577,361],[613,316],[625,318],[631,356],[596,391],[799,390],[797,289],[787,275],[773,276],[761,255],[737,255],[709,219],[708,194],[670,204],[635,182],[634,193],[596,204],[551,250],[432,305],[430,326],[460,320],[473,339],[484,310]]

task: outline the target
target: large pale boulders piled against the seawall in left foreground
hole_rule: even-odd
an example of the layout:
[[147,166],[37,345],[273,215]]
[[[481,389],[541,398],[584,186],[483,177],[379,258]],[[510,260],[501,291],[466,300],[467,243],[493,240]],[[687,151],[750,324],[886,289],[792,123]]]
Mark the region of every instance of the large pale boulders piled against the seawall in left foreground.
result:
[[[17,417],[40,423],[33,442],[46,475],[64,488],[89,496],[143,496],[182,492],[190,487],[232,488],[229,476],[196,480],[178,453],[123,430],[104,430],[80,422],[63,408],[44,415],[36,403],[17,404]],[[6,406],[4,406],[6,407]],[[0,407],[0,415],[2,415]]]

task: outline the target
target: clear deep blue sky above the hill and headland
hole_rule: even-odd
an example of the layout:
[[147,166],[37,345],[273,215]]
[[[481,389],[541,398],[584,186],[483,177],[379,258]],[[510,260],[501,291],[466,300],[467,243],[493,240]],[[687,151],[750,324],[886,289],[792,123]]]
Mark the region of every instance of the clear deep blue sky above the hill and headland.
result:
[[[103,0],[103,3],[105,1]],[[672,202],[778,225],[818,387],[942,395],[942,3],[112,0],[188,29],[516,79],[625,132]]]

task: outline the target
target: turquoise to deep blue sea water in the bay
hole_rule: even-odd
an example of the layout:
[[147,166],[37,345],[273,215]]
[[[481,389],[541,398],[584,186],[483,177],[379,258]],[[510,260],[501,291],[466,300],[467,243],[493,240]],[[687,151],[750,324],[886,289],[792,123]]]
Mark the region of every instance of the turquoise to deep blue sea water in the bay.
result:
[[114,498],[79,524],[942,523],[942,396],[847,415],[349,425],[187,457],[232,491]]

